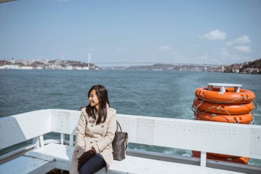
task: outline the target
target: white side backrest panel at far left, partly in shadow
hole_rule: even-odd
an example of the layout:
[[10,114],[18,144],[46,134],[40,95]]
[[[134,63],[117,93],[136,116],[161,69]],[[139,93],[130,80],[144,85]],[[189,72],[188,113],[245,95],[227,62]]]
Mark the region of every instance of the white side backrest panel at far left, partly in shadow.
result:
[[52,131],[48,109],[1,118],[0,149]]

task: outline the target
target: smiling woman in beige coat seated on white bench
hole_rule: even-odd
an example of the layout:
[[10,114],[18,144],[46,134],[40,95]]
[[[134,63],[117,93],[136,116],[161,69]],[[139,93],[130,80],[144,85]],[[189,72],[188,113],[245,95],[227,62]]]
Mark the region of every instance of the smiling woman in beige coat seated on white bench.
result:
[[116,131],[116,111],[110,107],[108,92],[102,85],[91,87],[89,105],[81,109],[76,131],[76,149],[70,173],[89,174],[108,168],[113,162],[111,142]]

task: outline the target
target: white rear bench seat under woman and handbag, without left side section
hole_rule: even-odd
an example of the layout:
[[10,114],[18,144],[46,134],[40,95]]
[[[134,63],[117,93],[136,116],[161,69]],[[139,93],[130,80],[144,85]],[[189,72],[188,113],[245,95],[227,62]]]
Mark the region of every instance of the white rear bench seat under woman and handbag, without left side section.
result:
[[[28,152],[25,156],[43,159],[49,162],[55,161],[56,168],[63,170],[69,170],[69,160],[73,153],[74,147],[65,146],[62,144],[48,144],[43,148],[36,149]],[[133,167],[135,166],[135,167]],[[122,161],[114,161],[110,167],[110,173],[204,173],[204,174],[218,174],[218,173],[231,173],[236,172],[224,171],[214,168],[202,168],[201,166],[194,166],[188,164],[177,164],[173,162],[164,162],[158,160],[150,160],[142,157],[126,156],[126,159]],[[96,174],[106,173],[104,168]]]

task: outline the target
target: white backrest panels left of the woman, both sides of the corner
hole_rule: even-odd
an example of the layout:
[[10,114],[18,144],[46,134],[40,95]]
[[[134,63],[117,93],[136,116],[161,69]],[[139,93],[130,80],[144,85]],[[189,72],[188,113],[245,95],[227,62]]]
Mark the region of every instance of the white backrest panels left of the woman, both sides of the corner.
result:
[[80,111],[44,109],[1,118],[0,149],[36,137],[43,144],[41,135],[51,131],[73,134],[79,117]]

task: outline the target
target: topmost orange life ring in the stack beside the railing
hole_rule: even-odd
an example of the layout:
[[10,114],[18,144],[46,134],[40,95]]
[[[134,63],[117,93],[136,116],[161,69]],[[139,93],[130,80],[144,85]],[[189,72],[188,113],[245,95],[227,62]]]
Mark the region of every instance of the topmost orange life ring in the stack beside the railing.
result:
[[220,87],[213,87],[213,91],[208,91],[207,87],[199,87],[195,95],[199,100],[218,103],[248,103],[256,98],[253,91],[240,89],[240,92],[235,92],[232,87],[227,88],[224,94],[220,94]]

